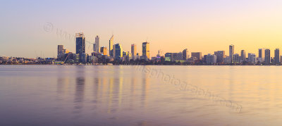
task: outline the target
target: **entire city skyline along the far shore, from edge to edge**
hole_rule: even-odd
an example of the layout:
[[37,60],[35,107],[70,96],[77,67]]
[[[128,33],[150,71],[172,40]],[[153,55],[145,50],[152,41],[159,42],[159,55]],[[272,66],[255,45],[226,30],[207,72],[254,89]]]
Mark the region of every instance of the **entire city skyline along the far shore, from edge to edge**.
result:
[[140,65],[281,65],[280,50],[275,49],[271,57],[270,49],[258,49],[255,53],[241,50],[235,53],[234,45],[229,46],[229,53],[214,51],[202,56],[202,52],[183,49],[180,52],[168,52],[164,55],[158,51],[157,56],[150,57],[149,42],[142,43],[142,53],[137,53],[136,44],[131,44],[131,51],[123,51],[121,44],[114,44],[114,35],[109,39],[109,48],[100,46],[99,36],[95,37],[92,53],[85,53],[85,36],[82,32],[75,34],[75,53],[58,45],[57,58],[14,58],[0,57],[0,64],[140,64]]

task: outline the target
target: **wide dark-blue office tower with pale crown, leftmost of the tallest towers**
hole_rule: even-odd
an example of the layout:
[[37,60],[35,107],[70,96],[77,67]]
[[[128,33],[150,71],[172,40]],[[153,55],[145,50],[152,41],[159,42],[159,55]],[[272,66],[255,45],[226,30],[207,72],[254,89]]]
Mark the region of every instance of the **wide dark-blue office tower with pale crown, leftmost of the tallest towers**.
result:
[[76,33],[76,53],[85,53],[85,37],[83,32]]

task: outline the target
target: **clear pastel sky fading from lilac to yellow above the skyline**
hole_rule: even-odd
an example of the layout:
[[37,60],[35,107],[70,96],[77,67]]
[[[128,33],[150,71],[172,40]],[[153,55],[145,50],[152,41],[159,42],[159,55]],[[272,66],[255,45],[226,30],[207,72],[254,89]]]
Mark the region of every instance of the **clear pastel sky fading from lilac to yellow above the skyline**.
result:
[[[0,56],[55,57],[58,44],[75,52],[73,36],[84,32],[88,42],[99,35],[100,46],[150,42],[151,56],[183,49],[203,54],[235,45],[235,53],[245,49],[282,49],[282,1],[265,0],[142,0],[142,1],[1,1]],[[44,25],[51,23],[46,32]],[[92,45],[86,45],[92,51]]]

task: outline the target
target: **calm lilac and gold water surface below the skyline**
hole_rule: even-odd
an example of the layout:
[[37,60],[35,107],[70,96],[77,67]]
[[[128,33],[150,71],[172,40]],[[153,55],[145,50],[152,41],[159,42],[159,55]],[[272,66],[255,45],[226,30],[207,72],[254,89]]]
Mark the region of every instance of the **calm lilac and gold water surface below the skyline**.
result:
[[0,65],[0,125],[282,125],[279,66]]

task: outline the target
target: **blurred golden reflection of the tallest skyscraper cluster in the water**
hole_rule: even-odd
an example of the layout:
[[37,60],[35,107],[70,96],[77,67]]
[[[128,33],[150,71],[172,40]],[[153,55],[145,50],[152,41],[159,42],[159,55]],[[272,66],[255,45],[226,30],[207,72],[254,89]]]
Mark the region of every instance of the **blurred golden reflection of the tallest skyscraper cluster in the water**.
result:
[[[124,66],[113,66],[116,68],[111,68],[111,70],[97,69],[90,73],[92,76],[91,82],[87,83],[85,66],[73,67],[75,67],[73,71],[75,78],[68,77],[68,75],[58,75],[57,99],[67,99],[68,94],[73,93],[73,114],[75,118],[81,118],[87,98],[92,100],[95,113],[97,111],[115,113],[124,108],[135,109],[146,106],[149,75],[142,71],[130,71]],[[69,87],[73,87],[74,92],[73,90],[68,91]],[[90,95],[86,93],[87,91],[91,92]]]

